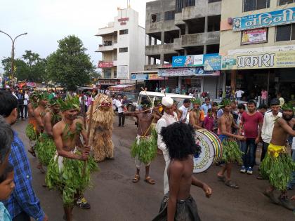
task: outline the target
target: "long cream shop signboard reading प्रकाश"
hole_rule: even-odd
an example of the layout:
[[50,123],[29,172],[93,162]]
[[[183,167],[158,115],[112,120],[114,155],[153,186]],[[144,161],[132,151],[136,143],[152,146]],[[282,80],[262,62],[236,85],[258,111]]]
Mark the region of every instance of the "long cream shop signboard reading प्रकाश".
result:
[[237,54],[222,58],[221,69],[261,69],[295,67],[295,51]]

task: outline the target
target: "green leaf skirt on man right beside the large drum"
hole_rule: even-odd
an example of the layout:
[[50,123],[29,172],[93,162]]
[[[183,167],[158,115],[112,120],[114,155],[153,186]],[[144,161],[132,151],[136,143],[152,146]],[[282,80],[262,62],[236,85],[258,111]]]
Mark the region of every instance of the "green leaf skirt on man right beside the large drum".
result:
[[222,160],[225,163],[238,162],[242,163],[242,154],[235,138],[229,138],[226,135],[219,135],[218,138],[222,142]]

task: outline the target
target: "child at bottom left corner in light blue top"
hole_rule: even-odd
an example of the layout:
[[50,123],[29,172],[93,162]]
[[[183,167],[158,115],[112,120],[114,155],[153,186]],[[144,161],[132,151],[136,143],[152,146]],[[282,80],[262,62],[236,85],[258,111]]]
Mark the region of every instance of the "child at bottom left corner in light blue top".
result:
[[13,166],[8,164],[4,170],[3,175],[0,176],[0,220],[1,221],[11,221],[11,215],[9,215],[8,210],[5,208],[1,201],[5,201],[9,198],[14,189],[14,173]]

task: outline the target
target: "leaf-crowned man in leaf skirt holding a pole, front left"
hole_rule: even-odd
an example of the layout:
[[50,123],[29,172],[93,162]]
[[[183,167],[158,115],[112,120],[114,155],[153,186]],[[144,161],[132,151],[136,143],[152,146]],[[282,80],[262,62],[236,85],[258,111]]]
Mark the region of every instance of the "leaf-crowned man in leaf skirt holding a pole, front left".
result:
[[[74,201],[89,187],[90,175],[97,169],[97,165],[94,159],[89,157],[89,146],[84,146],[81,151],[76,147],[80,135],[83,136],[84,142],[88,143],[83,121],[77,119],[79,99],[68,95],[65,102],[58,101],[63,119],[53,126],[57,152],[47,167],[45,181],[49,189],[55,188],[62,192],[65,220],[72,221]],[[81,203],[90,208],[85,199]]]

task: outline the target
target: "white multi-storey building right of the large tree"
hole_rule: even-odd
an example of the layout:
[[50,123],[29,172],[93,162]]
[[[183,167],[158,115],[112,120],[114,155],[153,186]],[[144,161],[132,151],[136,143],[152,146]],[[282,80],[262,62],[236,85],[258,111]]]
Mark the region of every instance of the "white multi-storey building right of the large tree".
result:
[[144,69],[145,29],[138,25],[138,12],[132,8],[119,9],[114,21],[98,29],[102,53],[98,67],[103,69],[100,84],[131,83],[130,73]]

